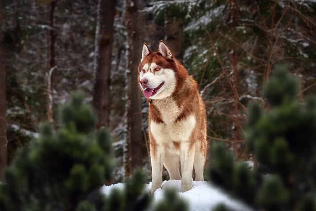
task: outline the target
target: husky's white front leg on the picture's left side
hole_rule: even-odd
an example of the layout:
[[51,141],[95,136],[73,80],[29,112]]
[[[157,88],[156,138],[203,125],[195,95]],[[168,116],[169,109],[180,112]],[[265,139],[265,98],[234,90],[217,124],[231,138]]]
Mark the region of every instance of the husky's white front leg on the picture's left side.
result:
[[151,169],[152,169],[152,183],[151,195],[154,195],[155,190],[161,188],[162,183],[162,165],[165,158],[165,147],[156,145],[150,147]]

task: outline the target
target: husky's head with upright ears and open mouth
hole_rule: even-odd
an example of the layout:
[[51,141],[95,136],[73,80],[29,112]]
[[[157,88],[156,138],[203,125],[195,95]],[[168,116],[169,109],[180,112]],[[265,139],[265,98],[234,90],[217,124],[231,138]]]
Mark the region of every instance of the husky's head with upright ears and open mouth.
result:
[[164,41],[159,42],[158,52],[151,52],[144,43],[138,79],[146,98],[163,99],[172,95],[180,74],[178,63]]

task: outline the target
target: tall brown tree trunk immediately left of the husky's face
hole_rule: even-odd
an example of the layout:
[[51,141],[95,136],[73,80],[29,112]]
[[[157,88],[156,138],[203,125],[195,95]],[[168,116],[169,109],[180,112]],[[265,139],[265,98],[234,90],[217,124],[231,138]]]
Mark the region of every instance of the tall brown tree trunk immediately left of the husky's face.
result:
[[139,109],[140,90],[138,85],[138,63],[141,60],[143,48],[143,9],[141,0],[125,0],[125,26],[127,30],[128,58],[127,58],[127,155],[125,157],[125,175],[129,176],[133,170],[143,164],[142,155],[142,120]]

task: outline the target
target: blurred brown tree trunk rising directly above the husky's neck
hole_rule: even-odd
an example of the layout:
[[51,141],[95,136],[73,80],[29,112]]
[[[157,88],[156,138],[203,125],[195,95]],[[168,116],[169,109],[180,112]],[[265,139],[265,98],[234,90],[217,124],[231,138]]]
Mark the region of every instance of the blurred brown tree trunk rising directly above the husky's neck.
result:
[[168,47],[170,48],[173,56],[179,61],[182,61],[183,20],[168,11],[167,16],[165,17],[165,30],[165,41],[167,42]]

